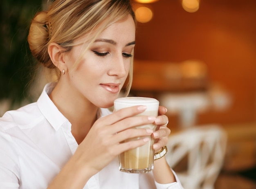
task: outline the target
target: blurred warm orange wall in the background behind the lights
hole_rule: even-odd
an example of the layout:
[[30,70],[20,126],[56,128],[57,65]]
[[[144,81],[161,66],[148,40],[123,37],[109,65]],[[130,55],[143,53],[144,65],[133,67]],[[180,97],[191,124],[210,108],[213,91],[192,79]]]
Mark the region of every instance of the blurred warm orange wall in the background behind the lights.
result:
[[201,0],[196,13],[180,0],[149,6],[154,18],[137,24],[135,58],[182,62],[200,59],[211,82],[231,92],[225,112],[207,112],[199,123],[256,121],[256,0]]

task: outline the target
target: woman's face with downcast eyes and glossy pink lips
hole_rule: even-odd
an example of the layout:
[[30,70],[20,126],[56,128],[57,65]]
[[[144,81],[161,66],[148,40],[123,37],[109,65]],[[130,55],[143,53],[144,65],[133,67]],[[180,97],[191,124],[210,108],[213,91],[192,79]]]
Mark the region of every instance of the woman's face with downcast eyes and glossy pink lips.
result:
[[[64,55],[67,65],[65,85],[72,98],[90,101],[101,108],[109,108],[118,97],[130,68],[135,46],[135,23],[131,16],[105,29],[85,52],[76,68],[74,63],[83,51],[85,38],[76,41]],[[85,44],[86,46],[86,44]],[[77,100],[76,99],[76,100]]]

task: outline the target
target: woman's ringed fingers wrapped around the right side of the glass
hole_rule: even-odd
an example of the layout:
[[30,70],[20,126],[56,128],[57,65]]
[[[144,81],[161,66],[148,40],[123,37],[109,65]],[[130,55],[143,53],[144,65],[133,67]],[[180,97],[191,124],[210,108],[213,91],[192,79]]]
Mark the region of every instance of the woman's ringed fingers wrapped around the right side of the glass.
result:
[[155,152],[158,152],[168,142],[168,136],[171,130],[167,127],[168,117],[164,115],[167,109],[164,106],[159,106],[159,116],[155,120],[155,124],[159,125],[159,129],[153,132],[153,138],[156,139],[156,143],[153,145]]

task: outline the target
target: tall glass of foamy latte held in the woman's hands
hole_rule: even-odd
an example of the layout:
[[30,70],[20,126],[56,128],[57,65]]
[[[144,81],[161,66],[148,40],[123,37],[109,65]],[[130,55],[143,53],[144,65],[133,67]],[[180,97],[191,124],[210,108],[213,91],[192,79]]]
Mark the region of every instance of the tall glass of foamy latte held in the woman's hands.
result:
[[[147,116],[157,116],[159,101],[153,98],[147,97],[125,97],[119,98],[114,102],[115,110],[119,110],[121,108],[126,108],[134,105],[146,105],[147,109],[145,112],[142,112],[139,115],[147,115]],[[135,128],[144,128],[144,129],[152,129],[156,130],[157,125],[155,124],[147,124],[137,126]],[[155,140],[150,136],[150,141],[141,147],[137,147],[135,149],[128,150],[119,155],[119,169],[120,171],[128,172],[128,173],[147,173],[153,169],[154,163],[154,150],[153,144]],[[137,140],[143,137],[130,138],[124,142],[128,142],[131,140]]]

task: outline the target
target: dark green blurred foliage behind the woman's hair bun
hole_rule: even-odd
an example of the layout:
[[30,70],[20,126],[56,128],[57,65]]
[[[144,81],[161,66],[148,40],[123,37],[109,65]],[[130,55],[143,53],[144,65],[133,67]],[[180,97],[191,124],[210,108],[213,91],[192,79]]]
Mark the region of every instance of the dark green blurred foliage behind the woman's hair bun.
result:
[[3,0],[0,5],[0,100],[19,103],[27,97],[35,60],[27,35],[42,0]]

